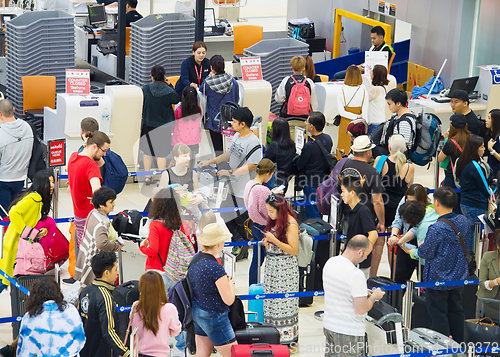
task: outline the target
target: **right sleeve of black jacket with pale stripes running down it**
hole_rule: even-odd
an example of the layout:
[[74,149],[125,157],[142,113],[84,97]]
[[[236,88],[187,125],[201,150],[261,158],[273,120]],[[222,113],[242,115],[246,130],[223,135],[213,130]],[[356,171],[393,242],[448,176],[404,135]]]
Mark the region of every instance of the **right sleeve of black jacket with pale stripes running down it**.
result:
[[128,357],[130,356],[130,350],[123,344],[115,331],[114,312],[116,311],[116,306],[113,304],[114,300],[108,291],[101,292],[101,294],[102,298],[97,301],[97,311],[102,337],[115,353],[122,357]]

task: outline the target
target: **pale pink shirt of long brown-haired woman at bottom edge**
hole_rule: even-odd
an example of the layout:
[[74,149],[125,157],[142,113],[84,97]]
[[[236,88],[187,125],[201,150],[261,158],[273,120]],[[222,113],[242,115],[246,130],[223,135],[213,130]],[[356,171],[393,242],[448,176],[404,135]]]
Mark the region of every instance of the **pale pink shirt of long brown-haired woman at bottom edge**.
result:
[[[137,306],[137,301],[132,305],[132,311]],[[142,322],[142,318],[138,313],[131,312],[131,328],[132,332],[138,327],[137,334],[139,335],[139,353],[155,356],[168,357],[170,356],[170,347],[168,345],[169,336],[177,336],[181,332],[181,322],[177,308],[174,304],[165,304],[160,311],[160,320],[158,321],[158,331],[156,336],[150,330],[147,330]]]

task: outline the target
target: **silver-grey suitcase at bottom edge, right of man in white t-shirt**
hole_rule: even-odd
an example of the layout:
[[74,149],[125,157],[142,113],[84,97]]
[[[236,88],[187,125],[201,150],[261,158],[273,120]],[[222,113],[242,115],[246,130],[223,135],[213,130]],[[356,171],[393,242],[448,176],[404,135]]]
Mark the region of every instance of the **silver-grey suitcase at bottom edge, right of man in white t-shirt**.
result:
[[444,356],[465,356],[463,353],[458,353],[461,348],[458,342],[453,341],[451,338],[439,332],[427,328],[416,328],[410,330],[408,340],[405,345],[405,353],[422,352],[422,350],[438,351],[450,349],[452,351],[456,351],[456,353],[446,354]]

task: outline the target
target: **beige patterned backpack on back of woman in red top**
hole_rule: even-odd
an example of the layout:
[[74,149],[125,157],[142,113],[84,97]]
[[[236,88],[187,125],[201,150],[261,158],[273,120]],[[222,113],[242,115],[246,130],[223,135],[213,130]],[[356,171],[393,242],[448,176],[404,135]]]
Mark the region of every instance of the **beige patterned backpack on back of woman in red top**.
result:
[[168,248],[167,261],[163,266],[163,270],[168,278],[176,282],[183,279],[186,276],[189,263],[195,254],[194,244],[189,237],[179,229],[176,230],[172,234],[170,247]]

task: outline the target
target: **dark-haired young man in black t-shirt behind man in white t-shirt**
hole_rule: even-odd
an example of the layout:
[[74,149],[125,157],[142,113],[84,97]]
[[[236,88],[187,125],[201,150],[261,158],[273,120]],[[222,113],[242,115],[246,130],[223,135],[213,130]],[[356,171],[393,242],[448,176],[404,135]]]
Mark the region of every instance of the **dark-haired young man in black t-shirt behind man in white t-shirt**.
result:
[[[361,202],[359,194],[361,193],[361,181],[354,176],[346,176],[340,183],[342,190],[342,201],[347,204],[351,210],[347,221],[347,242],[355,235],[362,234],[368,237],[370,241],[370,251],[378,239],[377,227],[372,218],[370,209]],[[367,260],[371,260],[371,253]],[[369,268],[362,269],[365,275],[368,275]]]

